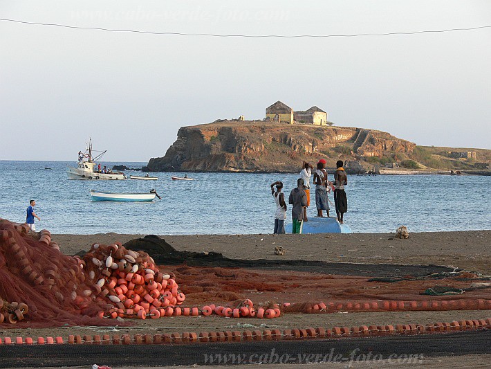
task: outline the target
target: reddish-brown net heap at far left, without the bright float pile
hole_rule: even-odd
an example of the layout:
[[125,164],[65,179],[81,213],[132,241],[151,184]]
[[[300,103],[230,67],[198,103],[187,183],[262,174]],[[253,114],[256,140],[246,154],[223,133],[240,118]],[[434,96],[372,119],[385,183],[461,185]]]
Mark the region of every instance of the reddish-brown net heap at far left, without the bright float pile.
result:
[[98,318],[113,306],[95,297],[77,259],[60,253],[48,231],[39,240],[28,231],[26,224],[0,219],[3,318],[19,325],[29,321],[29,327],[113,324]]

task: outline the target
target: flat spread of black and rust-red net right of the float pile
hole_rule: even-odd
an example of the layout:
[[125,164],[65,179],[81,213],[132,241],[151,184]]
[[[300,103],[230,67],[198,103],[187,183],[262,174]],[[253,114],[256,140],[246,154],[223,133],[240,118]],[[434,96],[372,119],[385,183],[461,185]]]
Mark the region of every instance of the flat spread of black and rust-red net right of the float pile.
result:
[[[284,312],[312,312],[313,305],[319,301],[335,305],[346,305],[349,301],[353,307],[368,300],[419,302],[427,299],[420,293],[435,287],[435,279],[447,289],[466,291],[436,296],[437,299],[491,298],[490,289],[470,287],[470,281],[485,276],[434,265],[237,260],[215,252],[178,251],[155,235],[131,240],[124,246],[149,253],[161,269],[172,271],[186,295],[186,303],[196,305],[222,303],[233,307],[236,301],[251,298],[254,305],[263,307],[270,303],[291,303],[282,307]],[[454,307],[461,308],[468,307]],[[419,304],[418,309],[425,307]]]

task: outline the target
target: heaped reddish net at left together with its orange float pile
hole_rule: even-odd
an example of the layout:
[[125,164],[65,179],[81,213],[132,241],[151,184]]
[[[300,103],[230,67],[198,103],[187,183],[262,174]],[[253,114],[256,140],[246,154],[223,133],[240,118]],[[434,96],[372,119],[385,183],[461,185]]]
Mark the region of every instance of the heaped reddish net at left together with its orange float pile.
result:
[[[113,325],[103,317],[160,316],[185,296],[143,251],[93,244],[64,255],[49,231],[0,220],[0,320],[29,327]],[[127,323],[126,323],[127,324]],[[118,325],[125,325],[118,322]]]

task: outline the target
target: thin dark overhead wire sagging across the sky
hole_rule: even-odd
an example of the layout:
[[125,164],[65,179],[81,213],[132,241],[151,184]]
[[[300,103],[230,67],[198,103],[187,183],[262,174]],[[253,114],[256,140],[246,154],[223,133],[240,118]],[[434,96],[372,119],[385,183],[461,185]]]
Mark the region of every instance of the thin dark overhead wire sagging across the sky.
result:
[[180,32],[152,32],[147,30],[115,30],[101,27],[82,27],[68,26],[66,24],[56,23],[37,23],[32,21],[19,21],[17,19],[0,19],[0,21],[11,21],[21,24],[32,24],[35,26],[55,26],[63,28],[74,28],[78,30],[104,30],[106,32],[124,32],[124,33],[143,33],[145,35],[174,35],[174,36],[196,36],[196,37],[246,37],[246,38],[327,38],[327,37],[360,37],[360,36],[390,36],[390,35],[418,35],[420,33],[444,33],[461,30],[479,30],[482,28],[491,28],[491,26],[478,26],[470,28],[449,28],[446,30],[416,30],[413,32],[388,32],[388,33],[354,33],[351,35],[239,35],[239,34],[216,34],[216,33],[180,33]]

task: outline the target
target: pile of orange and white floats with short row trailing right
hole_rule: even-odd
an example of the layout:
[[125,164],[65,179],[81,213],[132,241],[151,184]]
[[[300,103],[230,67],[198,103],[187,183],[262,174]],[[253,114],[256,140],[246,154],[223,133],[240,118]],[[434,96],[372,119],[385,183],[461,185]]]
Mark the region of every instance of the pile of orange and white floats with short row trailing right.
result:
[[78,262],[93,284],[95,295],[114,305],[107,314],[101,314],[104,317],[157,319],[217,314],[230,318],[275,318],[281,314],[279,305],[256,310],[249,299],[228,307],[213,304],[201,308],[182,307],[185,294],[179,290],[174,274],[160,271],[145,251],[125,249],[118,242],[93,244]]

